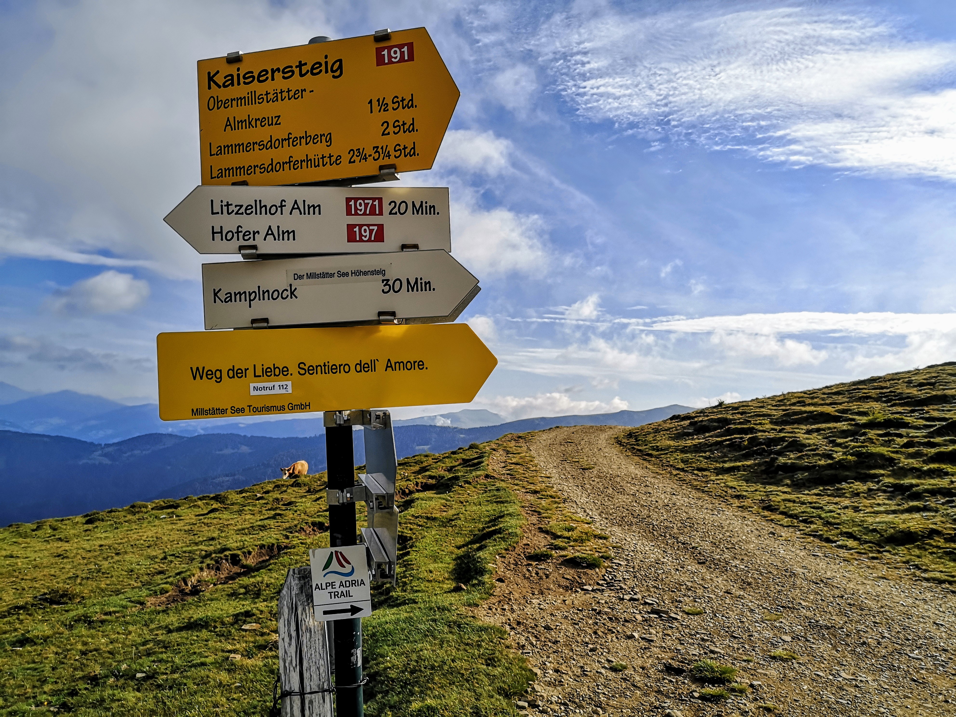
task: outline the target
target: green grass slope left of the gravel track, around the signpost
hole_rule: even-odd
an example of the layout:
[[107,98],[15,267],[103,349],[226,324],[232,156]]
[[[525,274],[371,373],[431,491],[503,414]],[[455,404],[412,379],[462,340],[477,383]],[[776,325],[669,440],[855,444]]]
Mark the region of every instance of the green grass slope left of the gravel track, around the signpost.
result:
[[[523,522],[514,475],[488,469],[503,445],[400,465],[400,580],[363,620],[370,715],[512,715],[532,679],[467,612]],[[327,521],[311,476],[0,529],[0,714],[266,714],[278,592]]]

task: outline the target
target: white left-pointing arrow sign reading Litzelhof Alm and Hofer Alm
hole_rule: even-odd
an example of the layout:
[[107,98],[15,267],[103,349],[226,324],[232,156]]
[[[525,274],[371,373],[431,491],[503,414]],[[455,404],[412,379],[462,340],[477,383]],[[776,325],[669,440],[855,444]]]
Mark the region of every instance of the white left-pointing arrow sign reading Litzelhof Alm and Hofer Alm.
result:
[[201,254],[451,250],[447,187],[205,185],[165,222]]

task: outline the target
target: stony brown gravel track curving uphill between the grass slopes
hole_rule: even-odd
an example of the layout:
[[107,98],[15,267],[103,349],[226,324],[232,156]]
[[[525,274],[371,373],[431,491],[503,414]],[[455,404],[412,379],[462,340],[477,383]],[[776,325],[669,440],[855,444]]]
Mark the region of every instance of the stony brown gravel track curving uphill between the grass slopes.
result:
[[[478,612],[539,675],[531,714],[956,714],[951,590],[717,503],[626,455],[619,431],[554,428],[532,445],[614,559],[526,560],[549,539],[529,511]],[[704,660],[738,672],[707,682]]]

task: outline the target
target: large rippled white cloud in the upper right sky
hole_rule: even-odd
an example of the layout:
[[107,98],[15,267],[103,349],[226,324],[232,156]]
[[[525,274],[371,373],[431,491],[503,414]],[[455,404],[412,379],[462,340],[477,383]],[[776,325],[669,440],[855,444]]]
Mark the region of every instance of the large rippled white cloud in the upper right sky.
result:
[[772,161],[956,179],[956,43],[832,5],[579,7],[535,46],[584,118]]

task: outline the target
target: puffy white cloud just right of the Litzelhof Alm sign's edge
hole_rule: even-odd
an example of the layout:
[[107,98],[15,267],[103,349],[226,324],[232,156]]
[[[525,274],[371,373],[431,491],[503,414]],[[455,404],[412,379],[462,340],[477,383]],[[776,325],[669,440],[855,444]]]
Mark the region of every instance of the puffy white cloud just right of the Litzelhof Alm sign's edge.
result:
[[481,278],[544,270],[548,255],[543,233],[544,222],[534,215],[502,207],[482,209],[471,202],[451,203],[452,251]]

